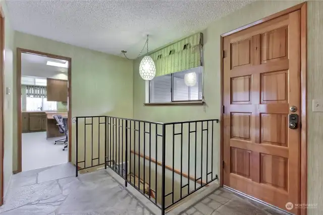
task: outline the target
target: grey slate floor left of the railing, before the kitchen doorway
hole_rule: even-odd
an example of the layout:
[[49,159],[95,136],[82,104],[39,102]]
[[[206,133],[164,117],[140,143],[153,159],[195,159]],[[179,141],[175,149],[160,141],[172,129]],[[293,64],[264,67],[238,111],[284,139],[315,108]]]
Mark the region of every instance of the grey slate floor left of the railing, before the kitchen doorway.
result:
[[62,164],[13,175],[1,214],[155,214],[104,170],[74,174]]

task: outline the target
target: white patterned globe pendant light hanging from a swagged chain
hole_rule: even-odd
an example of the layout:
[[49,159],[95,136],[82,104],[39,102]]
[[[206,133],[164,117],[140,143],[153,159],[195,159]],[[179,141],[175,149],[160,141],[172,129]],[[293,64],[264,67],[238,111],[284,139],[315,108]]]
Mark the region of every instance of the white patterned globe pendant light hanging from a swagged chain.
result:
[[[147,53],[148,53],[148,40],[149,40],[149,35],[147,35],[147,40],[146,40],[143,48],[141,49],[139,55],[135,59],[139,58],[139,56],[141,55],[141,53],[142,53],[143,49],[145,48],[146,44],[147,44]],[[127,51],[122,50],[121,52],[126,57],[126,59],[135,60],[135,59],[127,58],[127,56],[126,56]],[[139,74],[140,74],[140,76],[141,76],[141,78],[143,80],[152,80],[155,77],[156,66],[155,66],[155,63],[153,62],[153,60],[152,60],[152,58],[150,56],[145,56],[141,60],[140,65],[139,65]]]

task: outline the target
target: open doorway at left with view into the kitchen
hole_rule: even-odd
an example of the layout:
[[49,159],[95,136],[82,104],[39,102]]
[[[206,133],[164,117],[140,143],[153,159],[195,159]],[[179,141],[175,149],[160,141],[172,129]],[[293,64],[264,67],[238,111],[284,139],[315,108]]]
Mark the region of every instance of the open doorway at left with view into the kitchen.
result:
[[17,49],[17,172],[70,162],[70,91],[70,58]]

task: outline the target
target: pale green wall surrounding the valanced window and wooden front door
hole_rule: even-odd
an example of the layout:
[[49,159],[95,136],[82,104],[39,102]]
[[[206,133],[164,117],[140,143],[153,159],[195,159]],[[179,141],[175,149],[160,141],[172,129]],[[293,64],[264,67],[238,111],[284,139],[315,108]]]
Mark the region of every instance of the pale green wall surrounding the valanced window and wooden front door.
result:
[[[144,106],[145,82],[139,75],[141,58],[134,62],[134,118],[156,122],[187,121],[220,118],[220,35],[256,20],[270,16],[302,1],[256,1],[244,8],[223,17],[205,30],[204,55],[204,96],[206,111],[202,106]],[[316,203],[318,208],[309,209],[308,214],[323,214],[323,113],[312,112],[312,99],[322,99],[323,91],[323,2],[309,1],[307,4],[307,113],[308,113],[308,202]],[[198,32],[200,30],[196,30]],[[190,33],[192,34],[192,33]],[[220,133],[220,125],[217,128]],[[214,166],[220,173],[220,137],[214,143],[217,154]],[[219,174],[220,176],[220,174]]]

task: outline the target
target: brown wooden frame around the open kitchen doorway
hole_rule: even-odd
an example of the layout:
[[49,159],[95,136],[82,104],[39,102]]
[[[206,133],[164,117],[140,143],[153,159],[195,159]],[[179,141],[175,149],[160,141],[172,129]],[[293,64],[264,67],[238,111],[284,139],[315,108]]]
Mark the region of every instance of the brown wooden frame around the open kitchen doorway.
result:
[[17,129],[18,129],[18,170],[14,171],[14,173],[19,173],[22,171],[22,111],[21,111],[21,53],[31,53],[33,55],[39,55],[49,58],[56,58],[60,60],[66,60],[69,62],[68,67],[68,126],[69,126],[69,134],[68,134],[68,162],[72,160],[72,59],[64,56],[53,55],[51,53],[45,53],[40,51],[34,51],[25,48],[17,48]]

